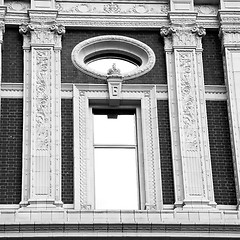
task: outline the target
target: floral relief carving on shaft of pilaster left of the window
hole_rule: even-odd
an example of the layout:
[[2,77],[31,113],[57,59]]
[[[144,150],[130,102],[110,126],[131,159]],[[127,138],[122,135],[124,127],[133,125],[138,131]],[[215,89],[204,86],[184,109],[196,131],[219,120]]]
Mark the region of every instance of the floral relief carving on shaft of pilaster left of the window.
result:
[[36,52],[36,133],[37,149],[48,149],[49,144],[49,67],[48,50]]

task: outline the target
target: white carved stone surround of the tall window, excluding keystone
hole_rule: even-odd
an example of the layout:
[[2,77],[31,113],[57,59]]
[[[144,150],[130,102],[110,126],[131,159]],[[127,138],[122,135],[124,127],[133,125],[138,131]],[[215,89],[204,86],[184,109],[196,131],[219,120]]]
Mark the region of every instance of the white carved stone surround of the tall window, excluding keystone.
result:
[[[89,101],[108,101],[107,85],[75,85],[74,87],[74,207],[75,209],[92,209],[94,196],[92,192],[92,161],[89,150],[91,136],[91,120],[89,119]],[[145,207],[149,210],[162,208],[160,154],[158,148],[157,108],[155,88],[144,87],[133,90],[123,85],[122,100],[140,101],[144,175],[145,175]],[[89,145],[90,144],[90,145]],[[81,173],[81,174],[80,174]]]

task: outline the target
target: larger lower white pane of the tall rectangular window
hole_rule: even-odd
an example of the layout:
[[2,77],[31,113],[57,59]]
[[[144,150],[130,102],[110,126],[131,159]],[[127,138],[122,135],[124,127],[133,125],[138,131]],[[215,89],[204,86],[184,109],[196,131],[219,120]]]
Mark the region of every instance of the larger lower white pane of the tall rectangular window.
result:
[[95,149],[95,208],[138,209],[135,149]]

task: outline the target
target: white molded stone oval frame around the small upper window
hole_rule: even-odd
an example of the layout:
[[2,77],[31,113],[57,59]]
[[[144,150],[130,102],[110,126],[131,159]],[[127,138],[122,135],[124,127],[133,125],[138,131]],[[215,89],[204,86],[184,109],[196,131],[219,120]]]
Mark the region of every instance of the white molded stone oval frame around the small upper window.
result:
[[146,44],[129,37],[105,35],[77,44],[72,51],[72,62],[76,68],[90,76],[107,79],[108,74],[98,72],[87,64],[88,59],[103,54],[121,55],[139,63],[139,67],[121,75],[123,80],[133,79],[149,72],[156,61],[153,50]]

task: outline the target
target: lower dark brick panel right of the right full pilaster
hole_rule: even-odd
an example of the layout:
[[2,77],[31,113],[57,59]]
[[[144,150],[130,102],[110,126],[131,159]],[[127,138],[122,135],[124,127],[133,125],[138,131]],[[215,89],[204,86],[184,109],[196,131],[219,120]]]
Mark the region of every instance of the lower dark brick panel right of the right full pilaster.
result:
[[209,142],[215,201],[236,204],[230,131],[225,101],[207,101]]

